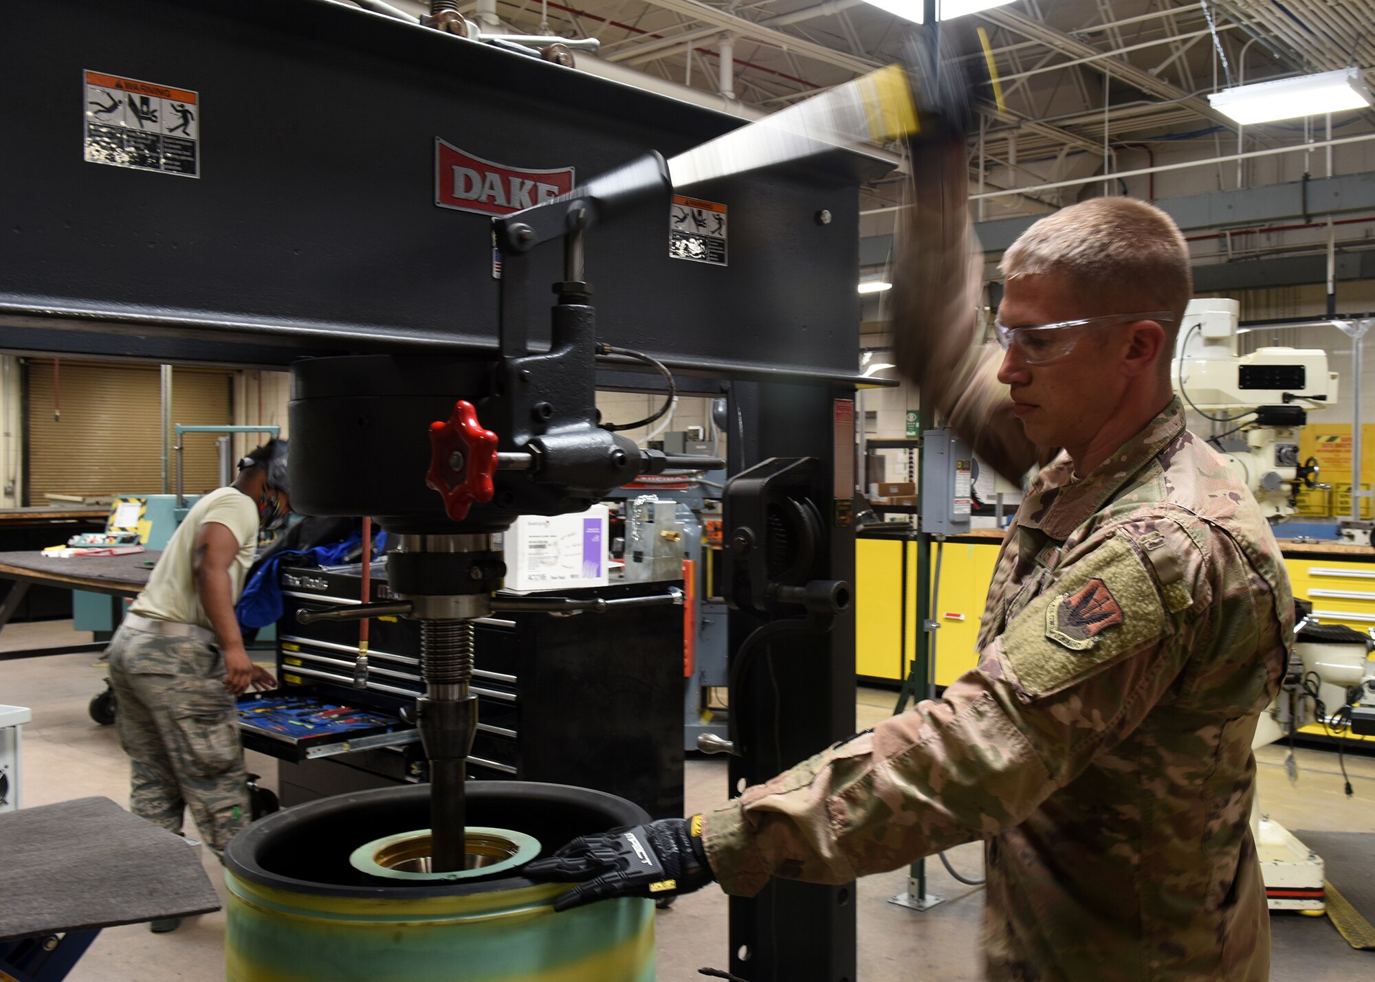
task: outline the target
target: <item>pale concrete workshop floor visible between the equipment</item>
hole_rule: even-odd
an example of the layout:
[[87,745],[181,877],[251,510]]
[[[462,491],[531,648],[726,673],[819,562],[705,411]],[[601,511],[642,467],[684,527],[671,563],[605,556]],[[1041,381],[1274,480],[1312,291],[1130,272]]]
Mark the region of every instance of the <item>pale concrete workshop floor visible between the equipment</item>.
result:
[[[70,641],[69,622],[11,624],[0,634],[0,651]],[[113,728],[96,726],[87,704],[103,690],[104,668],[91,655],[58,655],[0,662],[0,703],[28,706],[33,723],[23,729],[23,805],[104,795],[128,805],[128,765]],[[870,726],[892,711],[888,692],[861,690],[857,706],[859,728]],[[1375,759],[1348,756],[1356,789],[1343,798],[1336,756],[1321,750],[1299,750],[1299,777],[1286,778],[1284,751],[1262,748],[1260,788],[1265,810],[1290,829],[1375,832]],[[249,754],[249,770],[263,774],[271,787],[276,766],[270,758]],[[703,810],[725,798],[725,762],[689,761],[686,798],[689,811]],[[960,846],[950,861],[967,876],[982,873],[978,844]],[[220,869],[205,857],[206,871],[223,897]],[[979,919],[983,893],[954,882],[939,861],[928,864],[928,888],[943,904],[917,913],[888,904],[906,888],[906,871],[870,876],[859,883],[858,979],[978,979]],[[6,897],[4,904],[22,898]],[[700,967],[725,968],[726,898],[704,890],[681,898],[659,913],[659,982],[696,982]],[[1280,982],[1346,982],[1370,978],[1375,953],[1353,952],[1326,919],[1279,915],[1272,917],[1273,970]],[[188,920],[173,934],[153,935],[143,924],[109,928],[67,976],[72,982],[106,982],[125,978],[140,982],[212,982],[224,978],[224,915]],[[807,982],[804,979],[789,982]]]

